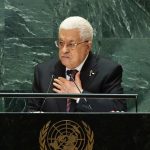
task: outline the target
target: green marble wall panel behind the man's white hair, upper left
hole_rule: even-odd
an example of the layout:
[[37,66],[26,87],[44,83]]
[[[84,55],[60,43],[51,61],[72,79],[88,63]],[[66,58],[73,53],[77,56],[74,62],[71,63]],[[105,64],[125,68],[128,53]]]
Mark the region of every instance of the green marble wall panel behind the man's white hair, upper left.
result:
[[56,37],[60,22],[71,15],[83,16],[93,26],[95,21],[100,26],[100,6],[101,0],[8,0],[5,33],[7,37]]

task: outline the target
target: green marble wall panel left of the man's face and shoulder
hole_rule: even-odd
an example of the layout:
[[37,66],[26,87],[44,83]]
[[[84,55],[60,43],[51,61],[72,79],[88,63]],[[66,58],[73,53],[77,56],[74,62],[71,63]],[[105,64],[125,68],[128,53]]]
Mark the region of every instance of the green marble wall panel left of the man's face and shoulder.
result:
[[33,68],[51,59],[57,49],[50,38],[8,38],[4,47],[4,90],[31,90]]

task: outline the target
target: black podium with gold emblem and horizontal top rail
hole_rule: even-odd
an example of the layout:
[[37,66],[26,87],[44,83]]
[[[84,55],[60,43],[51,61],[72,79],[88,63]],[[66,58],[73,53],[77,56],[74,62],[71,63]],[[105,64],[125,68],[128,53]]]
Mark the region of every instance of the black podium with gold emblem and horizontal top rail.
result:
[[[0,93],[1,97],[85,97]],[[137,95],[89,95],[136,98]],[[111,97],[110,97],[111,96]],[[114,98],[113,97],[113,98]],[[0,149],[6,150],[149,150],[148,113],[0,113]]]

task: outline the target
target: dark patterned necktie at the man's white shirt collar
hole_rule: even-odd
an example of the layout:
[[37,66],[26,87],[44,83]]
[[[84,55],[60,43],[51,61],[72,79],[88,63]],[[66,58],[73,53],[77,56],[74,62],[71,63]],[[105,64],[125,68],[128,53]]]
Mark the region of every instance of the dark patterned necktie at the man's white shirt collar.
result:
[[[70,76],[70,81],[73,81],[73,79],[75,79],[75,75],[78,71],[77,70],[67,70],[67,75]],[[67,98],[67,106],[66,106],[66,111],[69,112],[70,111],[70,106],[71,106],[71,100],[70,98]]]

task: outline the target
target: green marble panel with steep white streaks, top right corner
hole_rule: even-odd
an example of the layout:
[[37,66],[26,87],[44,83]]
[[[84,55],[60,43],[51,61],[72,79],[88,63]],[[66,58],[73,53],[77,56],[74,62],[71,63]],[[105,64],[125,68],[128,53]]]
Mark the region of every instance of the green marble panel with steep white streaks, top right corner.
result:
[[[150,37],[149,0],[102,0],[103,37]],[[147,6],[146,4],[149,4]]]

